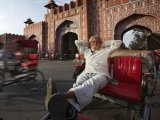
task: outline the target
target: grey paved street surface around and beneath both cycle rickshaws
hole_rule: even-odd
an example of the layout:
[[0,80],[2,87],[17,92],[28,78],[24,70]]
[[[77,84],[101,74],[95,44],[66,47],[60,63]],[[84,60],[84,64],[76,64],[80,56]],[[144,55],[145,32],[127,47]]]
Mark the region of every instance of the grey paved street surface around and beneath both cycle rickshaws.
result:
[[[65,91],[72,86],[75,64],[77,62],[44,60],[40,61],[39,70],[45,74],[45,83],[49,77],[52,77],[56,80],[58,89]],[[3,117],[4,120],[40,120],[46,114],[44,108],[45,85],[42,90],[34,92],[15,84],[5,87],[4,91],[0,93],[0,117]],[[158,86],[160,86],[159,82]],[[160,117],[160,87],[157,88],[155,95],[152,99],[152,120],[158,120]],[[126,120],[125,108],[115,109],[112,107],[113,104],[106,105],[109,109],[92,109],[88,110],[86,114],[92,116],[92,120]]]

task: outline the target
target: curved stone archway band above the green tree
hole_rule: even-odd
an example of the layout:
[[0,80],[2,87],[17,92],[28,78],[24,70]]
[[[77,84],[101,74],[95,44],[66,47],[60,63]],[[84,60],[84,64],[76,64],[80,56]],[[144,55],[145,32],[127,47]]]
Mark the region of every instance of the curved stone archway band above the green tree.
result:
[[156,27],[158,24],[160,24],[160,20],[154,16],[133,14],[116,24],[114,39],[122,39],[124,31],[133,28],[134,26],[141,26],[149,29],[152,33],[156,33],[159,29]]

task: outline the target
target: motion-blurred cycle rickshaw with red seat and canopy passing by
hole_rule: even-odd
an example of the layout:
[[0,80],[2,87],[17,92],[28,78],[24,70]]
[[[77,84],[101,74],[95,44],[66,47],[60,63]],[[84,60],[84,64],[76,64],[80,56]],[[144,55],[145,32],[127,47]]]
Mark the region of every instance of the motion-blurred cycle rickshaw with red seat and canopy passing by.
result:
[[[44,85],[44,74],[38,70],[38,55],[33,50],[37,48],[37,40],[19,40],[17,42],[21,48],[27,50],[25,57],[18,57],[14,60],[1,61],[0,80],[2,87],[10,84],[24,85],[31,90],[40,90]],[[21,56],[21,54],[18,54]],[[9,77],[6,77],[6,74]],[[9,79],[8,79],[9,78]]]

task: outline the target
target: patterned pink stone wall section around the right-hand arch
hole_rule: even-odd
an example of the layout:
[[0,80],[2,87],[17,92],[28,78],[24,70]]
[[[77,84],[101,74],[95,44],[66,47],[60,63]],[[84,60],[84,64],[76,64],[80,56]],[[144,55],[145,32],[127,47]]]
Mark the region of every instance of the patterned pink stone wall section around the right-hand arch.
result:
[[105,10],[106,39],[121,39],[122,33],[132,26],[140,25],[160,33],[160,1],[137,0]]

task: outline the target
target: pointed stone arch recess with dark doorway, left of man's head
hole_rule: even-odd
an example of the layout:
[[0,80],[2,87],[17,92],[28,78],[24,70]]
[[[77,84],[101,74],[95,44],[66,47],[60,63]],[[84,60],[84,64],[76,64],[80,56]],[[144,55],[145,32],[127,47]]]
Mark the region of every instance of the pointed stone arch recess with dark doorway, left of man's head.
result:
[[[78,39],[78,26],[73,21],[65,20],[56,29],[55,52],[58,54],[71,53],[73,58],[77,52],[74,46],[74,40]],[[71,49],[69,48],[71,47]]]

